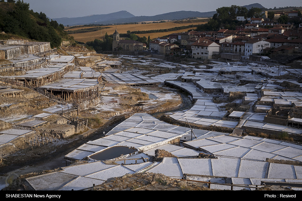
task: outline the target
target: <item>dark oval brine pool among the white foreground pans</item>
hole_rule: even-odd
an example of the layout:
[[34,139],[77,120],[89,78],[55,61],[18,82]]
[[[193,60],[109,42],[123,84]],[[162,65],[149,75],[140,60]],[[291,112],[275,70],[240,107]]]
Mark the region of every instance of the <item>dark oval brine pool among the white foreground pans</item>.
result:
[[107,159],[114,159],[119,157],[120,155],[127,155],[133,152],[136,152],[137,149],[131,149],[126,146],[114,146],[109,149],[106,149],[102,152],[99,152],[97,154],[91,155],[89,158],[98,160],[98,161],[104,161]]

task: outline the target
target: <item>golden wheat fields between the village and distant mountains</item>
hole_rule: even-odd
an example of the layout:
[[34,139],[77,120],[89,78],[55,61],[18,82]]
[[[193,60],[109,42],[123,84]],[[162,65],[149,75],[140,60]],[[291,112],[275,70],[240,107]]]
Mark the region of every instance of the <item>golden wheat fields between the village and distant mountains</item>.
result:
[[[118,33],[127,33],[128,30],[130,31],[144,31],[144,30],[156,30],[156,29],[170,29],[173,27],[181,27],[181,26],[188,26],[188,25],[199,25],[199,24],[205,24],[206,22],[196,22],[196,23],[174,23],[174,22],[164,22],[164,23],[153,23],[153,24],[123,24],[123,25],[117,25],[117,26],[105,26],[105,27],[110,27],[98,31],[93,31],[93,32],[87,32],[87,33],[74,33],[70,34],[71,36],[74,37],[76,41],[80,42],[88,42],[88,41],[93,41],[94,39],[103,39],[105,33],[107,32],[108,35],[111,35],[114,33],[115,28],[117,28]],[[80,30],[80,29],[85,29],[85,28],[93,28],[93,27],[70,27],[70,29],[66,29],[66,31],[72,31],[72,30]],[[193,27],[191,29],[195,29],[196,27]],[[177,30],[177,31],[172,31],[172,32],[159,32],[159,33],[146,33],[146,34],[137,34],[138,36],[150,36],[151,39],[154,39],[156,37],[161,37],[168,35],[170,33],[178,33],[178,32],[183,32],[187,31],[188,29],[185,30]]]

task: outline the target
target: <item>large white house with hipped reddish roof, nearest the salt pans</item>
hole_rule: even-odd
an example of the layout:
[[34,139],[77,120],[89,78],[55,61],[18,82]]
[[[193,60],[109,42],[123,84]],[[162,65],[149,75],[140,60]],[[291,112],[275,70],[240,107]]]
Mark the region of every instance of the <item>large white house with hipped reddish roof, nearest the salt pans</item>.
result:
[[213,52],[219,52],[220,45],[213,41],[194,42],[192,44],[192,58],[211,59]]

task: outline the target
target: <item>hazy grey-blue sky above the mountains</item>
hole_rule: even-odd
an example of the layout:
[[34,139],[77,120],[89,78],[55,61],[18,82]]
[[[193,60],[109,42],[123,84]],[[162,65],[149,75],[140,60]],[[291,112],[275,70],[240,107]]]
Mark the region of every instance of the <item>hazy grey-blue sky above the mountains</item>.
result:
[[174,11],[215,11],[219,7],[260,3],[265,8],[302,6],[301,0],[23,0],[34,12],[50,18],[83,17],[128,11],[135,16],[153,16]]

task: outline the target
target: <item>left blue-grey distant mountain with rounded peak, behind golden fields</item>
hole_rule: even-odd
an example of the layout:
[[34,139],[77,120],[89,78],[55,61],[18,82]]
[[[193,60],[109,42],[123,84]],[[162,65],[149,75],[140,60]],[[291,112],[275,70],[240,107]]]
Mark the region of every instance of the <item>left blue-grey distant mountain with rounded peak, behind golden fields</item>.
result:
[[135,17],[133,14],[127,11],[119,11],[115,13],[109,14],[101,14],[101,15],[88,15],[85,17],[63,17],[63,18],[54,18],[60,24],[64,24],[65,26],[69,25],[79,25],[79,24],[103,24],[104,21],[110,20],[118,20],[121,18],[130,18]]

